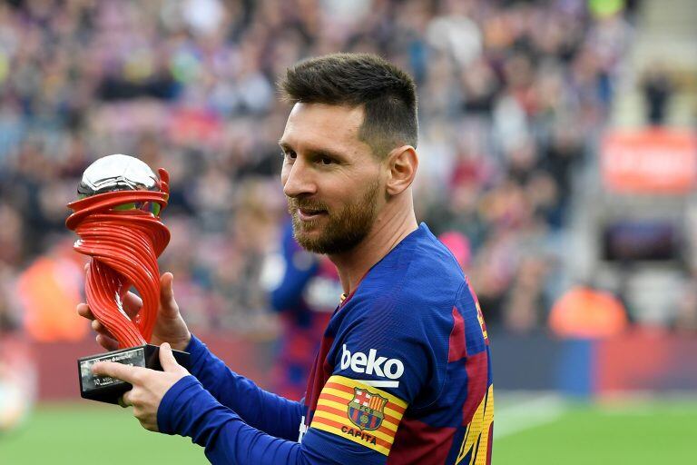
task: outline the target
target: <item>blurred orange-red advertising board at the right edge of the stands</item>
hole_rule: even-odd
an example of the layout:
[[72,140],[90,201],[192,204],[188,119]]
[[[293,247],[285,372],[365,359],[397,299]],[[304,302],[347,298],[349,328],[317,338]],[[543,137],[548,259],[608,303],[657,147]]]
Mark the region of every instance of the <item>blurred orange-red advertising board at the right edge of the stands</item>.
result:
[[697,183],[697,136],[686,129],[612,131],[601,146],[601,173],[617,193],[689,193]]

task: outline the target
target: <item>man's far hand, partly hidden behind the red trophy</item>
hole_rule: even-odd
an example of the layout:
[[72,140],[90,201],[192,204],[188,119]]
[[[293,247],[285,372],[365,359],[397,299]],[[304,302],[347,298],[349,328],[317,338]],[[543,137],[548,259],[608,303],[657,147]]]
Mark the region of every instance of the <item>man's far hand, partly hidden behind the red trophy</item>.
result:
[[[157,310],[155,327],[152,330],[151,343],[160,345],[162,342],[169,342],[174,349],[183,351],[191,341],[191,332],[189,332],[189,328],[179,312],[179,305],[174,300],[173,278],[171,272],[165,272],[160,277],[160,305]],[[141,298],[133,292],[127,292],[123,297],[123,311],[128,314],[129,318],[133,319],[141,307]],[[97,332],[96,339],[99,345],[107,351],[118,349],[118,342],[113,339],[113,335],[101,322],[95,320],[93,312],[86,303],[79,303],[77,312],[80,316],[92,320],[92,328]]]

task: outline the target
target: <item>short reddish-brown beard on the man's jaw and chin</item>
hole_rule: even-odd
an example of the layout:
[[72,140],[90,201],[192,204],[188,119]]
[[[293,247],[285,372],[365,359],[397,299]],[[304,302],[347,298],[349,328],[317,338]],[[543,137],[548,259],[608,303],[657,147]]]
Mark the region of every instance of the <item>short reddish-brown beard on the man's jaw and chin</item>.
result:
[[[378,180],[368,185],[366,192],[353,203],[346,204],[339,212],[330,212],[324,203],[288,197],[288,213],[293,224],[293,236],[300,246],[308,252],[336,254],[350,252],[362,242],[375,221],[375,207],[378,201]],[[322,211],[321,218],[302,221],[298,209]],[[320,222],[327,224],[319,228]]]

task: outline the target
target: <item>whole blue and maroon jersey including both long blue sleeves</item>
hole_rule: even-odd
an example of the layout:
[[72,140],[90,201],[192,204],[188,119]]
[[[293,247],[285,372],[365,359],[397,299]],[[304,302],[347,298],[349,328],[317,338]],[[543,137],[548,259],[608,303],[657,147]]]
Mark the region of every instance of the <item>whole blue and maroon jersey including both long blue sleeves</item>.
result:
[[157,411],[214,464],[488,465],[494,393],[474,292],[425,224],[329,321],[304,401],[261,390],[192,337]]

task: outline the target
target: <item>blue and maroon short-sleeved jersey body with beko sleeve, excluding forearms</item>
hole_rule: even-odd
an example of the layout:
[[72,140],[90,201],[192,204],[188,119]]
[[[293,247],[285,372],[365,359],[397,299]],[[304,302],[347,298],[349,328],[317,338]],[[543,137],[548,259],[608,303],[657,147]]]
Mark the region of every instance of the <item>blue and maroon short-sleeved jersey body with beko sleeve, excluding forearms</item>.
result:
[[[425,224],[339,305],[308,382],[301,440],[339,463],[488,464],[489,341],[476,295]],[[307,431],[307,432],[305,432]]]

